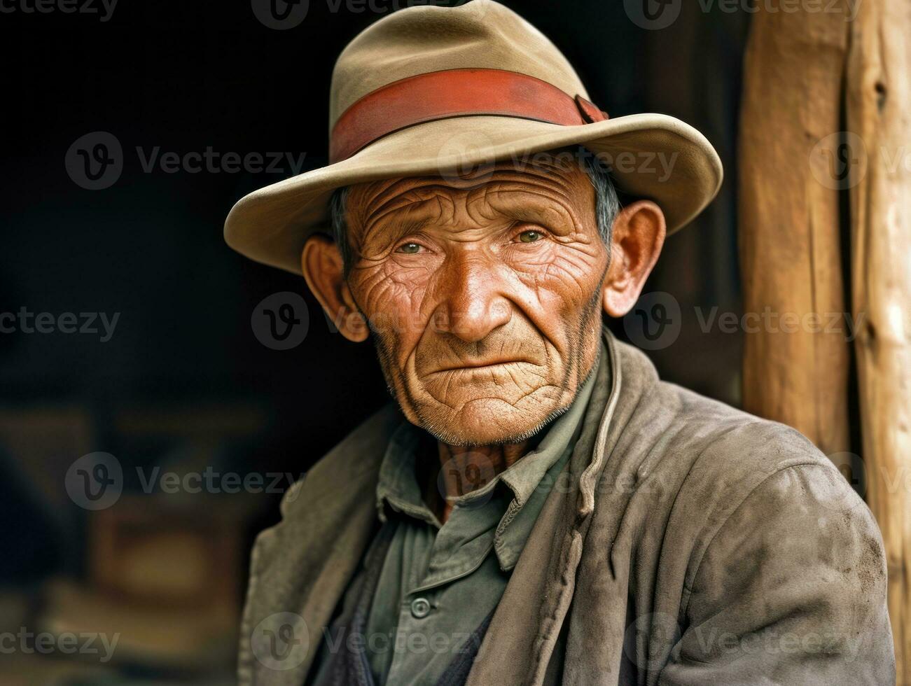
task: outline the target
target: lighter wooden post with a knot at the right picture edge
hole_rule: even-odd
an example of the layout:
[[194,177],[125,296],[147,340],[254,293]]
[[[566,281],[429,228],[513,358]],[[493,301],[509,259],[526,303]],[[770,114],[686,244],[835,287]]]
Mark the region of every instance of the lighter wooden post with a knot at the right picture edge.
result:
[[863,0],[846,82],[852,290],[867,502],[883,531],[899,684],[911,684],[911,4]]

